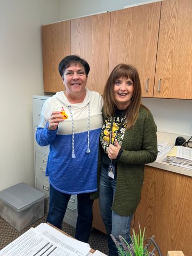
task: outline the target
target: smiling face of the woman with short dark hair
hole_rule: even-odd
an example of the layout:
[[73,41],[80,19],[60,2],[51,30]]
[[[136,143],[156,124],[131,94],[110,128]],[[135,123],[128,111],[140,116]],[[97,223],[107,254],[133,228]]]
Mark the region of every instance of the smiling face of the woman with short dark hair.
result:
[[67,98],[82,98],[86,95],[87,77],[85,68],[78,63],[65,69],[63,73],[63,84],[66,86]]

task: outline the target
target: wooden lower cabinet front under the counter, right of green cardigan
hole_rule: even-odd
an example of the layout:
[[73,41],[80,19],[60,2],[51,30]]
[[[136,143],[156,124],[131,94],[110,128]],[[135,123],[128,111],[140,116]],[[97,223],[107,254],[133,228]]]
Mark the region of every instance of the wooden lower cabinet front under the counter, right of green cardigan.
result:
[[182,250],[192,255],[192,177],[146,166],[141,201],[134,229],[146,227],[145,237],[155,235],[163,255]]

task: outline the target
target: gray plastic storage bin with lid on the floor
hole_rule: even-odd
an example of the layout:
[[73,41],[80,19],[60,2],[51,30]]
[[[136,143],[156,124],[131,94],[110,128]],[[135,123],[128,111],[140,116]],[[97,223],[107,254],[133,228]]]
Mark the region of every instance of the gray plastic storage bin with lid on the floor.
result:
[[21,231],[44,216],[45,193],[19,183],[0,191],[0,215]]

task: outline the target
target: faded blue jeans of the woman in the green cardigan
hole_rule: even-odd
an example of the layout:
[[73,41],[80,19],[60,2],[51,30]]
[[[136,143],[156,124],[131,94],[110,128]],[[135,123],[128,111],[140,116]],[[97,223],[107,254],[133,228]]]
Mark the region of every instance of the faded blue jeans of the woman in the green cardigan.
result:
[[[109,256],[118,256],[117,248],[110,237],[112,234],[119,242],[119,235],[121,235],[127,243],[131,243],[130,239],[130,225],[132,215],[121,216],[114,211],[111,211],[113,204],[115,189],[116,189],[117,171],[115,171],[115,179],[108,176],[108,167],[101,167],[101,177],[99,186],[99,204],[101,210],[101,217],[105,224],[107,231],[107,242],[109,247]],[[125,195],[126,196],[126,195]]]

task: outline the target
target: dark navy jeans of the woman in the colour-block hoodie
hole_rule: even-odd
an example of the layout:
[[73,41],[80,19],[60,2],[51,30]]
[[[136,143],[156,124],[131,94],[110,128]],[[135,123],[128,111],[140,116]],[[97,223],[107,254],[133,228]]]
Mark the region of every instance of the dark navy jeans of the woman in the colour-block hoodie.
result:
[[[61,193],[54,189],[50,184],[50,205],[47,215],[47,222],[61,229],[62,220],[67,210],[70,195]],[[90,199],[90,193],[77,195],[77,225],[75,238],[79,241],[88,243],[92,228],[92,205],[93,200]]]

